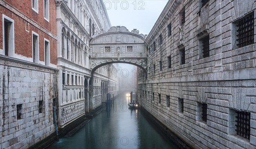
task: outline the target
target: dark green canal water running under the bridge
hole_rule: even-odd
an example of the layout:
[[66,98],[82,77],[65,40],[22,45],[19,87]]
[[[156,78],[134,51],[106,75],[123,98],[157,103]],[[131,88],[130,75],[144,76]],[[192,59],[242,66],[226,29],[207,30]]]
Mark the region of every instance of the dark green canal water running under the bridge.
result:
[[116,98],[72,137],[60,138],[49,149],[178,149],[143,116],[128,109],[128,100]]

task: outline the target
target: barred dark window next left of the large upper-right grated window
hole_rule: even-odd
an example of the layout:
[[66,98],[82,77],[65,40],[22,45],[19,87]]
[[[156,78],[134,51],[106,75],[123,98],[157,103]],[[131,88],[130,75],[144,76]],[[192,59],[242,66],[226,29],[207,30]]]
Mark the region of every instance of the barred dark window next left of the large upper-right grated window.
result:
[[209,34],[206,37],[203,37],[199,40],[199,49],[201,49],[201,56],[202,58],[209,57]]

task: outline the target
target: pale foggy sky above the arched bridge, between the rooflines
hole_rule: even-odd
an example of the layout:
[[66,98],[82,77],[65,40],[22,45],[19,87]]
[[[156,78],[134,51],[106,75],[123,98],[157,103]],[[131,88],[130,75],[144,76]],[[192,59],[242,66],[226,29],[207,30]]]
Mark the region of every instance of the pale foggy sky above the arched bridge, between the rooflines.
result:
[[112,26],[149,34],[168,0],[103,0]]

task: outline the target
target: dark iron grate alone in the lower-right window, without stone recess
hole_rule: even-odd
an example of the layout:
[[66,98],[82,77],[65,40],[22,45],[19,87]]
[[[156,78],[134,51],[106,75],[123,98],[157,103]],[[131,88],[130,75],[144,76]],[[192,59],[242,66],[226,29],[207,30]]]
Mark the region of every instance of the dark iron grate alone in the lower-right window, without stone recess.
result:
[[250,112],[236,111],[236,134],[250,140]]

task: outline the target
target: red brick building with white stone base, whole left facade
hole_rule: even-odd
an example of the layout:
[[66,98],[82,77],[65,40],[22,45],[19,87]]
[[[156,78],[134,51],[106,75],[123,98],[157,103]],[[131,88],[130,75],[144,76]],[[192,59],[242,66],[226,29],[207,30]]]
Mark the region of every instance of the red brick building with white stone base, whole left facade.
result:
[[0,148],[28,148],[55,135],[55,0],[0,0],[0,12]]

